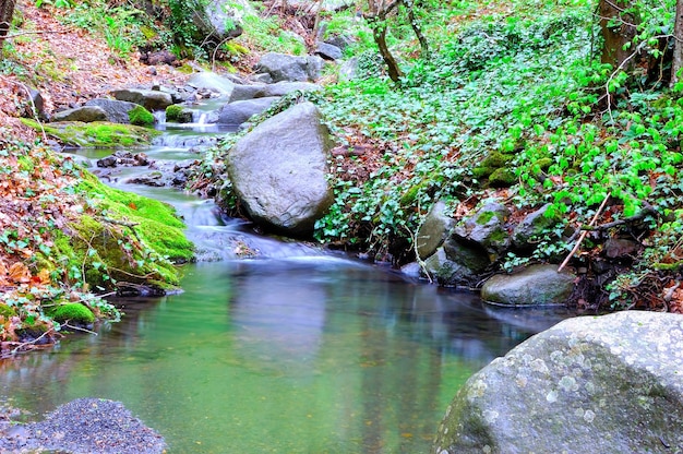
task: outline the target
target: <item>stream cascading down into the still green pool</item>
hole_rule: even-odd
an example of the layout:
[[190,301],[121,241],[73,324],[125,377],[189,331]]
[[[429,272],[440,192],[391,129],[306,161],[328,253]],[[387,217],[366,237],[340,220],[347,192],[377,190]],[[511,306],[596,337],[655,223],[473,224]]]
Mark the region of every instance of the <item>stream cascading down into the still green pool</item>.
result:
[[[167,126],[142,151],[196,158],[188,144],[220,133]],[[171,454],[428,453],[475,371],[567,316],[491,308],[471,292],[257,236],[212,201],[125,184],[143,171],[108,182],[173,204],[207,261],[184,265],[182,294],[115,300],[125,315],[97,336],[0,361],[0,395],[35,418],[91,396],[122,402]],[[236,239],[261,256],[236,259]]]

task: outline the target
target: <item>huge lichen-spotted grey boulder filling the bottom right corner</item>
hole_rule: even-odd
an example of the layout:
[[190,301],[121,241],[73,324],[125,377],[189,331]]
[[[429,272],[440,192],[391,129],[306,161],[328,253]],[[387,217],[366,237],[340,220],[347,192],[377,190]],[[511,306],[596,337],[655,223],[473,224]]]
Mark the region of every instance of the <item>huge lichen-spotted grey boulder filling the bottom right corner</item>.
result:
[[681,345],[678,314],[563,321],[467,381],[432,453],[680,452]]

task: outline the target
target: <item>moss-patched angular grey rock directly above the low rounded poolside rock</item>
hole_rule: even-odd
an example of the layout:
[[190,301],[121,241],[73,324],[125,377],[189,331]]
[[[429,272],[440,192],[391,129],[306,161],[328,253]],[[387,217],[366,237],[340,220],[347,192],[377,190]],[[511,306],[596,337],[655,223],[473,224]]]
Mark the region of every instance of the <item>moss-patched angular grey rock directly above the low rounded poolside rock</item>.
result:
[[487,200],[474,215],[456,225],[452,235],[480,244],[495,259],[510,246],[510,235],[505,229],[507,216],[510,210],[505,205]]

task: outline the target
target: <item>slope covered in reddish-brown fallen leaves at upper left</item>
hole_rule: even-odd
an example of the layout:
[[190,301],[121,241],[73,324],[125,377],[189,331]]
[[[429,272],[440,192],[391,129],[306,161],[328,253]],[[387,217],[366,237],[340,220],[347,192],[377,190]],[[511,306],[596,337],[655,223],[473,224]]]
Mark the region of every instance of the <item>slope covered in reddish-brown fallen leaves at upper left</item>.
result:
[[[101,37],[64,25],[55,19],[57,10],[36,8],[33,1],[19,1],[23,22],[11,32],[0,72],[0,127],[12,129],[16,139],[32,141],[36,134],[24,127],[19,117],[31,106],[26,93],[38,89],[47,115],[105,96],[119,87],[182,83],[187,75],[170,65],[148,67],[136,52],[122,59],[112,52]],[[9,74],[8,74],[9,72]],[[26,81],[33,81],[34,86]],[[27,110],[28,109],[28,110]]]

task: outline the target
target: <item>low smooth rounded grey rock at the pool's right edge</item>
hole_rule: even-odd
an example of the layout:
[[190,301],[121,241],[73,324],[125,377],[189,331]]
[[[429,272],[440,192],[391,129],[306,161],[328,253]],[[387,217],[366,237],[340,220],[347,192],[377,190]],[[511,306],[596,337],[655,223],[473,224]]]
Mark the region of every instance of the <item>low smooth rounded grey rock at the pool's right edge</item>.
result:
[[481,299],[504,306],[564,304],[574,290],[576,276],[558,265],[531,265],[513,274],[491,276],[481,287]]

